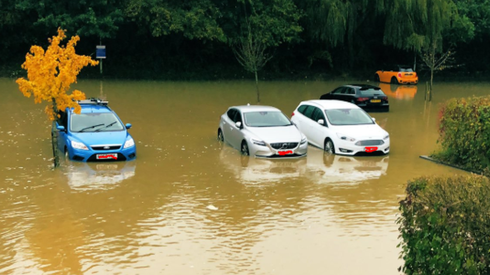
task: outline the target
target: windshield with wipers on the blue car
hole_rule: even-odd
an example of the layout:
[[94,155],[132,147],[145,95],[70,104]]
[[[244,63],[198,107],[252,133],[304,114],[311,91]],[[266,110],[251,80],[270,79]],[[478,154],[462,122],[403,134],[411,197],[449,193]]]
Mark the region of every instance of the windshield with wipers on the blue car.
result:
[[70,131],[72,132],[121,131],[124,128],[113,113],[71,115]]

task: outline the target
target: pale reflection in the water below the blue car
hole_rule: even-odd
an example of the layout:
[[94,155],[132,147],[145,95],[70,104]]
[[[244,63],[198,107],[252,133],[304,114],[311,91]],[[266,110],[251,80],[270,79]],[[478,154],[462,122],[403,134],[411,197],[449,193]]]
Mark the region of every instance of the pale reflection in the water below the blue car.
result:
[[136,161],[126,162],[65,162],[65,174],[72,190],[108,190],[135,175]]

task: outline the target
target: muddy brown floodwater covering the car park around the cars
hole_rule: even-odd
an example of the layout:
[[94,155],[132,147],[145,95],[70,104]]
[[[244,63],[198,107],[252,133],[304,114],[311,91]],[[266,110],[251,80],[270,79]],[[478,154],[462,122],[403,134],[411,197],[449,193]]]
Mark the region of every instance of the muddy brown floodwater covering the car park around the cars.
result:
[[[345,82],[262,82],[262,104],[290,115]],[[264,160],[216,140],[254,82],[80,81],[133,124],[137,159],[53,169],[45,105],[0,79],[0,274],[398,274],[407,180],[465,173],[419,158],[439,104],[490,83],[436,83],[431,103],[423,84],[382,86],[389,155]]]

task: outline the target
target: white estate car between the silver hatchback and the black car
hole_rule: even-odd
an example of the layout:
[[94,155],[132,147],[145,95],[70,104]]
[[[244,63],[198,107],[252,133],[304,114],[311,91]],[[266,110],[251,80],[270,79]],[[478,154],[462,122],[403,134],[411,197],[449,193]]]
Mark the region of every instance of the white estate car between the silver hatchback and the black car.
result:
[[390,135],[355,104],[339,100],[303,101],[291,121],[308,142],[333,154],[388,154]]

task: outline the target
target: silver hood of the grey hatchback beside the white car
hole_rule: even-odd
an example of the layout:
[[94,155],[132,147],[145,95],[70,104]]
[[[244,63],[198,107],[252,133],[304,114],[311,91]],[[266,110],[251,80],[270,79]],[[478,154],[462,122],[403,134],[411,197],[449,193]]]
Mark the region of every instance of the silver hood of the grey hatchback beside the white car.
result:
[[301,141],[301,133],[294,125],[278,127],[249,127],[248,130],[257,136],[257,138],[267,143]]

